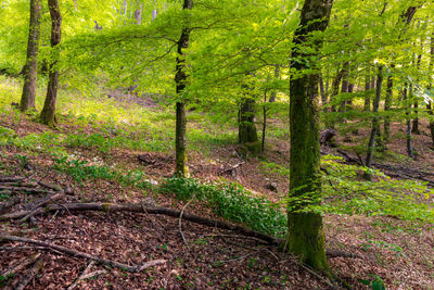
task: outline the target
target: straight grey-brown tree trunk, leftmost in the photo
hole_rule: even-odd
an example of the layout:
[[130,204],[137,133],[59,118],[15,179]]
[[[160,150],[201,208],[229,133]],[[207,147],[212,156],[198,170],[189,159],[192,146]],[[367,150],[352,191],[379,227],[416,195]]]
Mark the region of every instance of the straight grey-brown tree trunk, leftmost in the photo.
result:
[[38,77],[38,51],[40,37],[41,0],[30,0],[30,25],[28,29],[27,60],[23,67],[24,86],[20,110],[35,108],[36,83]]

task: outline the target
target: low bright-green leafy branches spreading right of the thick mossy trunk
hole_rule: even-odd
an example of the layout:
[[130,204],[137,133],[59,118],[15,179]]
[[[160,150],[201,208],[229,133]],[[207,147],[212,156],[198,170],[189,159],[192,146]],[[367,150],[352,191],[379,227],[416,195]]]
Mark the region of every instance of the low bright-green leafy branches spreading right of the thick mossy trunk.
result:
[[[275,163],[263,163],[263,167],[268,173],[285,177],[290,174],[289,168]],[[322,156],[321,168],[322,203],[305,210],[332,214],[395,216],[434,223],[434,209],[430,205],[434,191],[425,182],[395,180],[378,169],[343,164],[341,157],[332,155]],[[363,179],[366,172],[373,176],[372,181]],[[311,197],[303,196],[298,202],[309,199]],[[292,198],[291,202],[297,200]]]

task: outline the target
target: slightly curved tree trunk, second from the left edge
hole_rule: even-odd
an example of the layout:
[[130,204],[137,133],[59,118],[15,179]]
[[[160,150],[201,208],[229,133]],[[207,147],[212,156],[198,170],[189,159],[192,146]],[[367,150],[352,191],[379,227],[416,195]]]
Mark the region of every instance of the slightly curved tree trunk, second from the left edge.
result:
[[59,60],[59,51],[56,46],[61,42],[62,36],[62,16],[59,8],[58,0],[48,0],[48,7],[51,16],[51,48],[52,48],[52,61],[50,63],[49,80],[47,88],[46,102],[43,104],[40,118],[43,124],[49,126],[55,126],[55,102],[58,99],[58,86],[59,86],[59,68],[55,67]]

